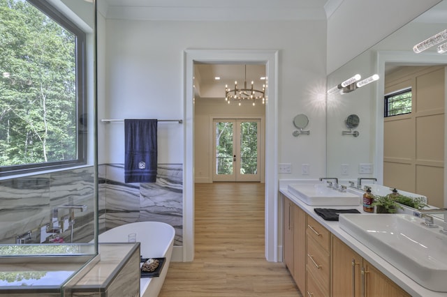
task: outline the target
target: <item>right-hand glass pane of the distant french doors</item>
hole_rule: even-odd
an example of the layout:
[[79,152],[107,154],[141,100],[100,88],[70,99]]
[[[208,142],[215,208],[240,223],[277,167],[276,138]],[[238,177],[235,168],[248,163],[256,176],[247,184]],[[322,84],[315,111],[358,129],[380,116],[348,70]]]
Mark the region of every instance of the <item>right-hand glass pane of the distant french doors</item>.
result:
[[240,123],[240,174],[258,172],[258,123]]

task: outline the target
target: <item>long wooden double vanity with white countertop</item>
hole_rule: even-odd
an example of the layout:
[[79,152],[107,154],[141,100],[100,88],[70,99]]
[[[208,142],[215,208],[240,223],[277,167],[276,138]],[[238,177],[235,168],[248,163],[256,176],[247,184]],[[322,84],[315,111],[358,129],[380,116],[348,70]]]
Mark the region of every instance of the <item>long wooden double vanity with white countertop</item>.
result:
[[[323,220],[302,199],[280,186],[284,262],[303,296],[447,296],[421,286],[340,227]],[[357,209],[364,213],[358,192]],[[321,206],[317,206],[321,207]]]

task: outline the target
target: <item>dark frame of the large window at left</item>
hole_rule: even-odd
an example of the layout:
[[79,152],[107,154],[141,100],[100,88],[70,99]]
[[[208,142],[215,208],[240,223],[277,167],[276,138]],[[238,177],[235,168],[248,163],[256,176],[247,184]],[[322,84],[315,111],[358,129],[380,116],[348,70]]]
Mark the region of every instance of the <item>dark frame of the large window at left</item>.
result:
[[48,170],[78,167],[87,164],[87,33],[68,19],[57,8],[45,0],[25,0],[35,6],[41,13],[50,17],[59,26],[75,36],[75,88],[76,88],[76,142],[77,158],[73,160],[42,162],[24,165],[0,166],[0,177],[15,174],[27,174]]

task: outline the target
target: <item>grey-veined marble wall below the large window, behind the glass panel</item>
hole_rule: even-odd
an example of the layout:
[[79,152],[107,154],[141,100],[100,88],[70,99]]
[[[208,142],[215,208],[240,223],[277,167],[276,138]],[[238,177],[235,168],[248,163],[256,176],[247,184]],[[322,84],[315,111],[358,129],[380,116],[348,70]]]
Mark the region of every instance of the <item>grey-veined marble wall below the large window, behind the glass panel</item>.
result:
[[[87,206],[87,211],[75,213],[73,242],[89,242],[94,236],[94,201],[94,167],[4,179],[0,181],[0,243],[15,244],[17,236],[29,231],[26,243],[41,243],[41,227],[50,224],[52,210],[69,203]],[[59,215],[61,219],[64,212]],[[71,241],[71,231],[58,235]]]

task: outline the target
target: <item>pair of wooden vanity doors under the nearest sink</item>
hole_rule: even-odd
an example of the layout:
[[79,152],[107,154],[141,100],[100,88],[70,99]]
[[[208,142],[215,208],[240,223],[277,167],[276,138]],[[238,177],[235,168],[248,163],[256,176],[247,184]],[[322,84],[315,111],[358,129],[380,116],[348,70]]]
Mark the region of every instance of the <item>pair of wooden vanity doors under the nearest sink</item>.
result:
[[333,297],[410,296],[339,238],[332,235],[331,241]]

